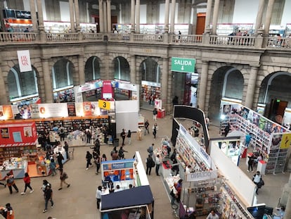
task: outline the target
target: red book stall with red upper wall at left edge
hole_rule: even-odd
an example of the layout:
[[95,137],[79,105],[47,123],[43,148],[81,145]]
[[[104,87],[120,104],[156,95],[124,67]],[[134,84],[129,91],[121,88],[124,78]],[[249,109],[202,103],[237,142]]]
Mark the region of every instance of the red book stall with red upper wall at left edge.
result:
[[24,177],[37,159],[37,128],[35,123],[0,124],[0,178],[13,173]]

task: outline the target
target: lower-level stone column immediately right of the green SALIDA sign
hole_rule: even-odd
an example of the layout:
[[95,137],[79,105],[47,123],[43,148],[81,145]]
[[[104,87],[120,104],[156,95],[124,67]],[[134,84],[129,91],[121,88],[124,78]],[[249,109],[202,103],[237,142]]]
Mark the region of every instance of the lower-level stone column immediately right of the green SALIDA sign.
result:
[[208,77],[208,65],[209,61],[202,61],[202,70],[200,77],[200,89],[198,96],[198,105],[199,108],[204,111],[205,110],[205,96],[207,91],[207,77]]

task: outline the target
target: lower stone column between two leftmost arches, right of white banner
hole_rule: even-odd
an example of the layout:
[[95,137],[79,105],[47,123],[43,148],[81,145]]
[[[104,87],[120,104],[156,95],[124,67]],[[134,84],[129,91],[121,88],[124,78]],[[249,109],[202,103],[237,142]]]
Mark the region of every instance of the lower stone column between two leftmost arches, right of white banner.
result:
[[42,63],[42,73],[44,75],[44,93],[46,99],[45,103],[53,103],[53,86],[51,81],[51,70],[48,66],[48,59],[44,58],[41,60]]

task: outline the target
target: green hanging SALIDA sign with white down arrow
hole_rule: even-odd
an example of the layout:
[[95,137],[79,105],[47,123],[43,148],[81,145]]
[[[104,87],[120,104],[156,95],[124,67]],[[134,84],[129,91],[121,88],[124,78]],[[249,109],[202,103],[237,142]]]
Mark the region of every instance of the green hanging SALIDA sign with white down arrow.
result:
[[195,72],[195,58],[177,58],[172,57],[171,70],[179,73],[194,73]]

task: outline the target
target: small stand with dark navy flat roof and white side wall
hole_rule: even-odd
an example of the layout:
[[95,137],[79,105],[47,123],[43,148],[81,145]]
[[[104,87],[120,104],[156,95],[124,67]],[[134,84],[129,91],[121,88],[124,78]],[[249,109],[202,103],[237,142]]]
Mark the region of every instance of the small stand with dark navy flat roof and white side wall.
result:
[[[101,196],[101,218],[153,218],[153,194],[145,174],[143,161],[138,151],[134,159],[104,161],[101,163],[103,189],[108,190],[108,181],[112,180],[114,188],[119,184],[119,192],[103,192]],[[129,184],[133,187],[129,189]]]

